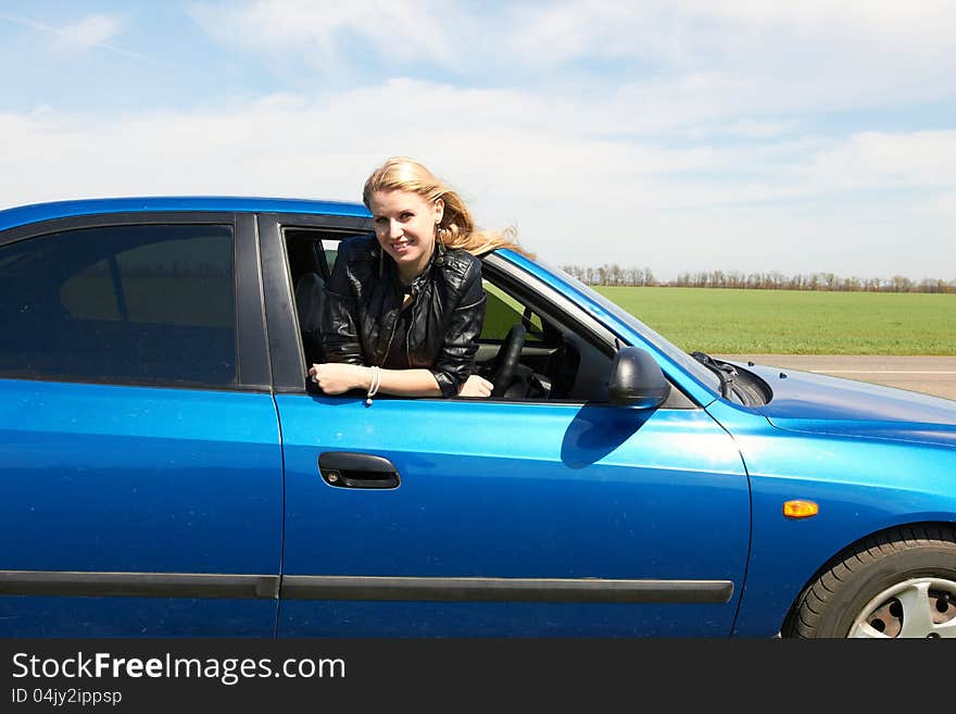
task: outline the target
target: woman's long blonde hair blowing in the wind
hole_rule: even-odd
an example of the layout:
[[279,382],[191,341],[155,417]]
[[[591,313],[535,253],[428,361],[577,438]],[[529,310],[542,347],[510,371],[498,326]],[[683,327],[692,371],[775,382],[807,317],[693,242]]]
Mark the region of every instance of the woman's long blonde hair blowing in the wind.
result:
[[511,248],[533,258],[517,245],[517,230],[477,230],[471,213],[455,191],[420,163],[407,156],[392,156],[372,172],[362,190],[362,202],[372,209],[372,197],[378,191],[412,191],[427,201],[441,199],[444,212],[438,224],[437,238],[446,248],[461,248],[474,255],[481,255],[496,248]]

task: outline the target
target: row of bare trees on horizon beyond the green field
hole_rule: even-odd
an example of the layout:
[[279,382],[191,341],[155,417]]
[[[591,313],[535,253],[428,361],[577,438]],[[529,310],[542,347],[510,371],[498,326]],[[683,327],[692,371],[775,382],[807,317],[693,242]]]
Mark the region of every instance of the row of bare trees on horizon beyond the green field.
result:
[[739,271],[701,271],[680,273],[672,280],[657,280],[650,267],[621,267],[616,263],[600,266],[562,265],[568,275],[587,285],[621,287],[739,288],[751,290],[832,290],[840,292],[949,292],[956,293],[956,279],[923,278],[903,275],[888,278],[844,277],[835,273],[783,275],[780,272],[741,273]]

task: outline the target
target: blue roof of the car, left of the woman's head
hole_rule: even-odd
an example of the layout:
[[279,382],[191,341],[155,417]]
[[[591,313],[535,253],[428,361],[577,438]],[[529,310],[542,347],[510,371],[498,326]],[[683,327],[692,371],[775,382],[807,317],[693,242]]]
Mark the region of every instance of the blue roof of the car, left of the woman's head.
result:
[[363,217],[370,215],[362,203],[348,201],[240,196],[143,196],[50,201],[7,209],[0,211],[0,230],[51,218],[147,211],[318,213]]

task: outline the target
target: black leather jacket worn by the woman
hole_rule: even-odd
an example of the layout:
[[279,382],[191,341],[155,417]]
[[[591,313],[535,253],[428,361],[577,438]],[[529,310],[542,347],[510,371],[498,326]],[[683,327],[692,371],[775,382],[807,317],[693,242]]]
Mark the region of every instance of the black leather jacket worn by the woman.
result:
[[[388,363],[404,299],[394,261],[374,234],[339,245],[326,287],[322,343],[328,362],[420,367],[435,375],[442,396],[454,397],[475,368],[485,322],[481,261],[436,245],[428,266],[408,286],[404,364]],[[399,337],[401,339],[401,337]],[[401,352],[400,352],[401,354]]]

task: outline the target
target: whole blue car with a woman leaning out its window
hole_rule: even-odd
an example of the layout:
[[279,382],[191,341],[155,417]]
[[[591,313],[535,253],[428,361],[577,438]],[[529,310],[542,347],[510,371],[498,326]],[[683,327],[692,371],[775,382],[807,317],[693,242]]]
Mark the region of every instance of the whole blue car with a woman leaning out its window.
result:
[[0,212],[0,635],[956,637],[956,402],[483,258],[490,399],[325,396],[364,206]]

